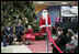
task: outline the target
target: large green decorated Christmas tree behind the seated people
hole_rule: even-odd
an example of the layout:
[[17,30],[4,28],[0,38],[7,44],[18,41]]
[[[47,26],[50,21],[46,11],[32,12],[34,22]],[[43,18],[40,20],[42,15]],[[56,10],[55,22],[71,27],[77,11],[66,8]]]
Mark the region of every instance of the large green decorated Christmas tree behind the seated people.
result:
[[[33,29],[37,29],[38,24],[34,21],[37,17],[34,10],[35,7],[32,1],[1,1],[1,26],[5,26],[8,22],[16,25],[16,23],[14,23],[15,19],[19,20],[26,17],[29,24],[31,24]],[[19,18],[16,15],[19,15]]]

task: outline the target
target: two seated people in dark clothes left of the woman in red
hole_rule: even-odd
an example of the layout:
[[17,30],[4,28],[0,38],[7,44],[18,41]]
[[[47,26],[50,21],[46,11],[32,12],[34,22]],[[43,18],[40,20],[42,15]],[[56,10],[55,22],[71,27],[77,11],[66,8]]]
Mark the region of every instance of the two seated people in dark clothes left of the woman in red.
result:
[[18,39],[19,42],[21,42],[21,35],[23,35],[24,26],[21,22],[15,25],[15,33],[13,32],[13,26],[9,22],[7,26],[4,28],[4,35],[3,35],[3,46],[7,46],[7,42],[9,42],[9,45],[13,43]]

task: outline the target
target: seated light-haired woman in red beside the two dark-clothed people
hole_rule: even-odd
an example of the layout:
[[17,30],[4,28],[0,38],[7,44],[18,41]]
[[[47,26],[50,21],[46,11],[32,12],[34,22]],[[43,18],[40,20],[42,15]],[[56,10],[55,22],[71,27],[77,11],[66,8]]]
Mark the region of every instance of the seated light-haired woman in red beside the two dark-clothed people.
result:
[[25,31],[25,34],[23,35],[24,37],[23,37],[23,41],[24,41],[24,43],[25,43],[25,40],[26,41],[34,41],[35,40],[35,36],[34,36],[34,31],[33,31],[33,29],[32,29],[32,26],[31,25],[29,25],[29,28],[27,28],[27,30]]

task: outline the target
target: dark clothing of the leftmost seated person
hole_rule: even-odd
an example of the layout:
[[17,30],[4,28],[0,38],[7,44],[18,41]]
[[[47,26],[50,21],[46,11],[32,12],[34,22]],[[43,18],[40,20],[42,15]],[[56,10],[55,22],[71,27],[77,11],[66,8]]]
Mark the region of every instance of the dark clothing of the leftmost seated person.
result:
[[[10,36],[8,37],[9,34],[10,34]],[[7,45],[7,41],[11,45],[11,43],[13,41],[13,35],[12,34],[13,34],[13,26],[5,26],[4,35],[3,35],[3,46]]]

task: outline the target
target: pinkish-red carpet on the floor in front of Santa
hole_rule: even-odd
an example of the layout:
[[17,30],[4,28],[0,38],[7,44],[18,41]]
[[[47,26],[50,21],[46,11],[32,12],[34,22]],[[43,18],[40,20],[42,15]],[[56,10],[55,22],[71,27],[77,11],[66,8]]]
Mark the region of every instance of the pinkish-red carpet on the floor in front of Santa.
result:
[[[26,45],[33,53],[47,52],[46,41],[34,41],[34,44]],[[48,52],[52,52],[52,46],[48,44]]]

